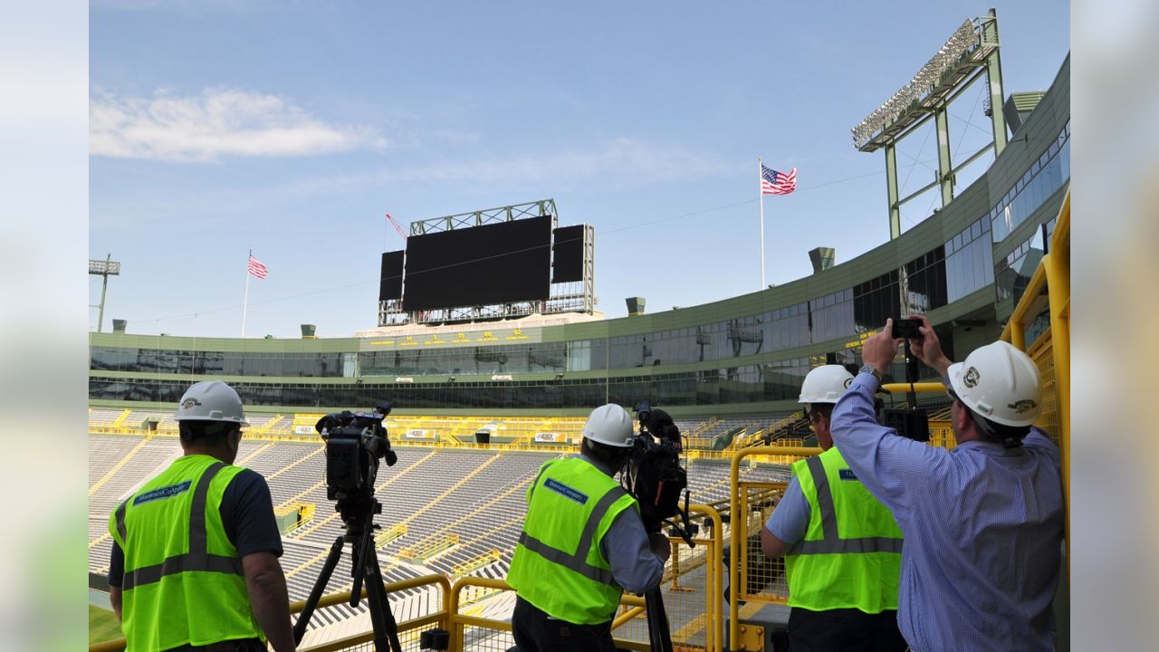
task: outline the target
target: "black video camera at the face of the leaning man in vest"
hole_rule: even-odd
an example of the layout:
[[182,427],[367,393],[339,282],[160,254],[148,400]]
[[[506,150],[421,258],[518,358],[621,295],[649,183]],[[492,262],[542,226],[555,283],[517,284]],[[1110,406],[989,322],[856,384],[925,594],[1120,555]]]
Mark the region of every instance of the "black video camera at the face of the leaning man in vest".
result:
[[[688,474],[680,466],[680,452],[684,451],[680,429],[666,412],[653,410],[647,400],[636,405],[636,418],[640,432],[622,476],[624,488],[639,501],[646,530],[658,533],[668,523],[672,526],[670,534],[694,545],[692,535],[697,526],[688,522]],[[671,521],[675,516],[680,516],[683,527]]]

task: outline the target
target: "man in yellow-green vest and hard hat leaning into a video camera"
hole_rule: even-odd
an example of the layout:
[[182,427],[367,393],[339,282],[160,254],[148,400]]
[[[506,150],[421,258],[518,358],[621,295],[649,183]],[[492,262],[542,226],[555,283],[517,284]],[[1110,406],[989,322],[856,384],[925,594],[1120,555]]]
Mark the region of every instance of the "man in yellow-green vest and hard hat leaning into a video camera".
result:
[[527,488],[508,572],[519,652],[612,652],[621,593],[659,586],[669,539],[644,530],[636,499],[614,479],[633,440],[626,410],[597,407],[584,423],[581,454],[546,462]]

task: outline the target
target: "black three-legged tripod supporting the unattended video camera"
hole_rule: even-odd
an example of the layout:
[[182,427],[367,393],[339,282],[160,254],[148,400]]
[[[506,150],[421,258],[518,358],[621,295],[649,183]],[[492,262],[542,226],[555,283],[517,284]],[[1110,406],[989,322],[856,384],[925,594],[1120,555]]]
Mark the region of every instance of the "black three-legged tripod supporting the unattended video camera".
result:
[[[382,584],[382,571],[378,566],[378,552],[374,548],[374,514],[382,513],[382,504],[372,497],[358,495],[352,499],[340,499],[337,510],[342,514],[342,521],[347,526],[347,531],[330,546],[330,552],[322,565],[314,587],[309,591],[306,606],[298,616],[298,622],[293,625],[293,637],[296,643],[301,643],[302,635],[306,633],[306,625],[309,624],[318,601],[326,591],[327,582],[334,568],[342,557],[342,544],[349,543],[353,562],[350,574],[353,578],[353,587],[350,589],[350,606],[357,607],[362,597],[362,586],[366,582],[366,602],[370,606],[370,622],[374,629],[376,652],[402,652],[399,644],[399,625],[391,613],[391,602],[387,599],[386,586]],[[387,646],[389,645],[389,647]]]

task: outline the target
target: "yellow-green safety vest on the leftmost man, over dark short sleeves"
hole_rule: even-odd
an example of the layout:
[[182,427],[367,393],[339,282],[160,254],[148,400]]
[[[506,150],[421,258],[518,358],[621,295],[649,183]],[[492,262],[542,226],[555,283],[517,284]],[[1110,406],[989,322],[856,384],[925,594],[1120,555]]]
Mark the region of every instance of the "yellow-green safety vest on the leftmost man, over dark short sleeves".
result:
[[242,468],[176,459],[117,507],[109,534],[125,555],[122,623],[129,652],[262,638],[221,498]]

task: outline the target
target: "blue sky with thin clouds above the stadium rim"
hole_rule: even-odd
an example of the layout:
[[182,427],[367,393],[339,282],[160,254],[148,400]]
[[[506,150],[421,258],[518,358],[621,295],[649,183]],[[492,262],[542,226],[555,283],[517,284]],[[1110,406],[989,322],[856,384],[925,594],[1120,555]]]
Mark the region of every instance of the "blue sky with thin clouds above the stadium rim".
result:
[[[105,329],[236,336],[253,247],[270,275],[248,336],[347,336],[374,325],[379,253],[402,247],[384,212],[547,197],[596,226],[608,317],[628,296],[736,296],[760,285],[758,155],[799,173],[765,200],[767,282],[808,275],[816,246],[850,260],[889,233],[883,155],[850,129],[989,6],[96,0],[89,254],[123,262]],[[1067,5],[997,8],[1006,93],[1044,89]],[[989,138],[982,88],[952,107],[962,158]],[[904,143],[903,195],[935,160],[926,132]],[[907,204],[903,229],[936,205]]]

